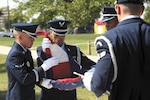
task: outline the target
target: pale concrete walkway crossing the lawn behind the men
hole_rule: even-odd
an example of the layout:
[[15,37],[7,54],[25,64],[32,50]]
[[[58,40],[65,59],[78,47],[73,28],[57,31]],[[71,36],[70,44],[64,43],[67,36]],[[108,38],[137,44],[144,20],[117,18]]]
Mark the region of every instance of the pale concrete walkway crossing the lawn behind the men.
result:
[[[9,53],[10,49],[11,49],[11,47],[8,47],[8,46],[0,46],[0,54],[7,55]],[[31,53],[32,53],[33,59],[36,59],[37,58],[36,51],[31,49]],[[97,62],[97,56],[87,55],[87,57],[90,58],[91,60]]]

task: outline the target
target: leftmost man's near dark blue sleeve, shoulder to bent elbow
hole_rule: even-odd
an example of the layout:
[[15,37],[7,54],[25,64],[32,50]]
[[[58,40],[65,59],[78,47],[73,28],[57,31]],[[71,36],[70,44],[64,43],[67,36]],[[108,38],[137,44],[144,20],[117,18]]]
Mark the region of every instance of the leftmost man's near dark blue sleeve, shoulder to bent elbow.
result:
[[[30,85],[36,82],[36,75],[32,71],[33,66],[29,66],[29,62],[24,62],[24,55],[12,55],[9,59],[8,70],[11,71],[16,80],[22,85]],[[31,67],[31,70],[28,69]]]

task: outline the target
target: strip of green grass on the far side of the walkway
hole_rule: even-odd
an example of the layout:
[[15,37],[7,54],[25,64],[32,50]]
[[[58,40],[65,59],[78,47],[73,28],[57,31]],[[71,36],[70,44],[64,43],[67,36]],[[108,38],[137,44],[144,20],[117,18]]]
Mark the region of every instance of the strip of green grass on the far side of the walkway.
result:
[[[81,51],[85,54],[88,53],[88,43],[91,43],[91,55],[97,55],[94,47],[94,40],[99,36],[99,34],[68,34],[66,36],[65,42],[71,45],[77,45],[80,47]],[[37,46],[41,45],[43,36],[39,36],[35,39],[35,42],[31,49],[35,50]],[[0,45],[12,46],[14,38],[0,37]]]

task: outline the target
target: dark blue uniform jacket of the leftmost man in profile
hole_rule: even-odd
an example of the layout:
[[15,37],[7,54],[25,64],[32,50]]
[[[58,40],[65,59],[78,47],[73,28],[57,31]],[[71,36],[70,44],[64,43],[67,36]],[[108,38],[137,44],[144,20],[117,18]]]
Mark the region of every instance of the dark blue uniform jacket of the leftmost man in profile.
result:
[[[6,67],[8,72],[6,100],[35,100],[36,75],[32,71],[34,67],[30,51],[24,50],[15,42],[7,56]],[[36,70],[39,73],[39,79],[44,77],[41,67]]]

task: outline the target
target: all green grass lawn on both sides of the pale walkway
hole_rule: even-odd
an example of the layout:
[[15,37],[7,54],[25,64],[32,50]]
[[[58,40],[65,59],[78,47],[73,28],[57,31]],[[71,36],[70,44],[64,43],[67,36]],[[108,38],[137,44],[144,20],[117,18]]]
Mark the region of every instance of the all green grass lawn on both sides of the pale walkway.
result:
[[[91,41],[93,43],[96,36],[98,36],[98,35],[68,34],[66,37],[66,43],[78,45],[80,47],[80,49],[85,54],[87,54],[87,51],[86,51],[87,44],[86,43],[88,43],[88,41]],[[42,38],[43,37],[39,37],[39,38],[35,39],[32,49],[36,49],[37,46],[41,45]],[[14,38],[0,37],[0,45],[11,46],[13,44],[13,42],[14,42]],[[93,45],[92,55],[96,55],[96,53],[94,53],[94,52],[95,52],[95,49],[94,49],[94,45]],[[0,100],[5,100],[7,84],[8,84],[7,72],[6,72],[6,68],[5,68],[6,56],[7,55],[0,54]],[[35,66],[36,66],[36,61],[34,61],[34,62],[35,62]],[[36,86],[35,90],[36,90],[36,98],[38,98],[38,96],[40,94],[40,88]],[[94,93],[88,91],[86,88],[78,88],[77,89],[77,97],[78,97],[78,100],[96,100]],[[107,96],[103,95],[98,100],[107,100]]]

